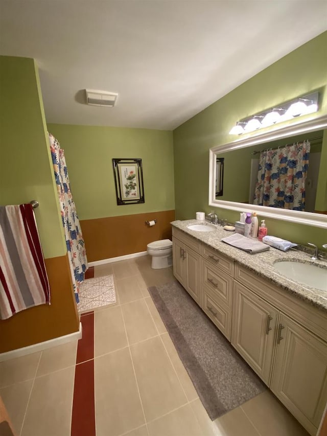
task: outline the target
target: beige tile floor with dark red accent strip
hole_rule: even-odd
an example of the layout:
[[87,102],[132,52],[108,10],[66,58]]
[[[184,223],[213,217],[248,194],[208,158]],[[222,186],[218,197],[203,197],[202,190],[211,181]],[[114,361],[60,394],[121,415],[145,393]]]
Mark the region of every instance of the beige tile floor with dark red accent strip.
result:
[[0,396],[17,435],[308,435],[269,391],[212,422],[147,290],[170,281],[171,268],[152,270],[145,256],[95,268],[95,277],[107,274],[116,303],[81,318],[92,345],[77,352],[70,342],[0,363]]

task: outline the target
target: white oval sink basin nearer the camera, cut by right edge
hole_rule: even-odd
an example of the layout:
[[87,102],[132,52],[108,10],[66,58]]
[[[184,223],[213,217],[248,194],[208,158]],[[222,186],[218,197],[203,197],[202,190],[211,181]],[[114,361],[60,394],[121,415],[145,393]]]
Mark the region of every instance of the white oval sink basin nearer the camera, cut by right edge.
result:
[[319,268],[319,266],[313,264],[293,261],[275,262],[274,268],[279,274],[288,279],[302,285],[327,291],[327,268]]

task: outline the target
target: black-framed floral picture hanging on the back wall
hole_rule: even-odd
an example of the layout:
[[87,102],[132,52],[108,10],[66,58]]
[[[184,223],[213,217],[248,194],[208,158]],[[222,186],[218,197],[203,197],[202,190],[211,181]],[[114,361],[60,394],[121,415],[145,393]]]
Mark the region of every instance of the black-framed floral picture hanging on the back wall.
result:
[[142,159],[112,159],[117,204],[144,203]]

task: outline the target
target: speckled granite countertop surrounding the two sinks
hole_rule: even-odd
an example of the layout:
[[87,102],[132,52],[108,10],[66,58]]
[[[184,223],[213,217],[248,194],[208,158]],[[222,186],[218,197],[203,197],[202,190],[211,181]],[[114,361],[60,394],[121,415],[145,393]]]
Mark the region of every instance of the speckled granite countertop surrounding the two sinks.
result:
[[[249,254],[246,251],[232,247],[229,244],[221,241],[221,238],[235,234],[235,232],[228,232],[222,226],[217,226],[216,231],[213,232],[196,232],[188,228],[192,224],[209,224],[204,221],[197,221],[195,219],[185,221],[173,221],[171,223],[174,227],[179,228],[188,235],[193,236],[201,242],[204,242],[209,247],[215,248],[221,254],[235,260],[240,265],[252,270],[258,276],[268,279],[272,284],[283,288],[288,292],[298,296],[302,300],[310,302],[312,305],[327,312],[327,292],[321,289],[311,288],[307,285],[302,285],[293,280],[281,276],[274,268],[273,264],[276,261],[292,260],[295,262],[305,262],[308,264],[316,264],[322,268],[327,268],[326,260],[312,261],[308,253],[291,248],[288,251],[281,251],[276,248],[270,247],[268,251],[262,253]],[[213,225],[213,224],[209,224]]]

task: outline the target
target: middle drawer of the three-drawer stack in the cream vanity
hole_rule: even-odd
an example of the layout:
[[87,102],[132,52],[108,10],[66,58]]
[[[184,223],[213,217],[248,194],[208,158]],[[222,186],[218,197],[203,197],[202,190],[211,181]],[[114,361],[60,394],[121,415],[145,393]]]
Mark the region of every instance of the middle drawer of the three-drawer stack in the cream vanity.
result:
[[202,259],[202,285],[203,289],[212,291],[217,303],[221,302],[231,309],[233,279],[204,259]]

